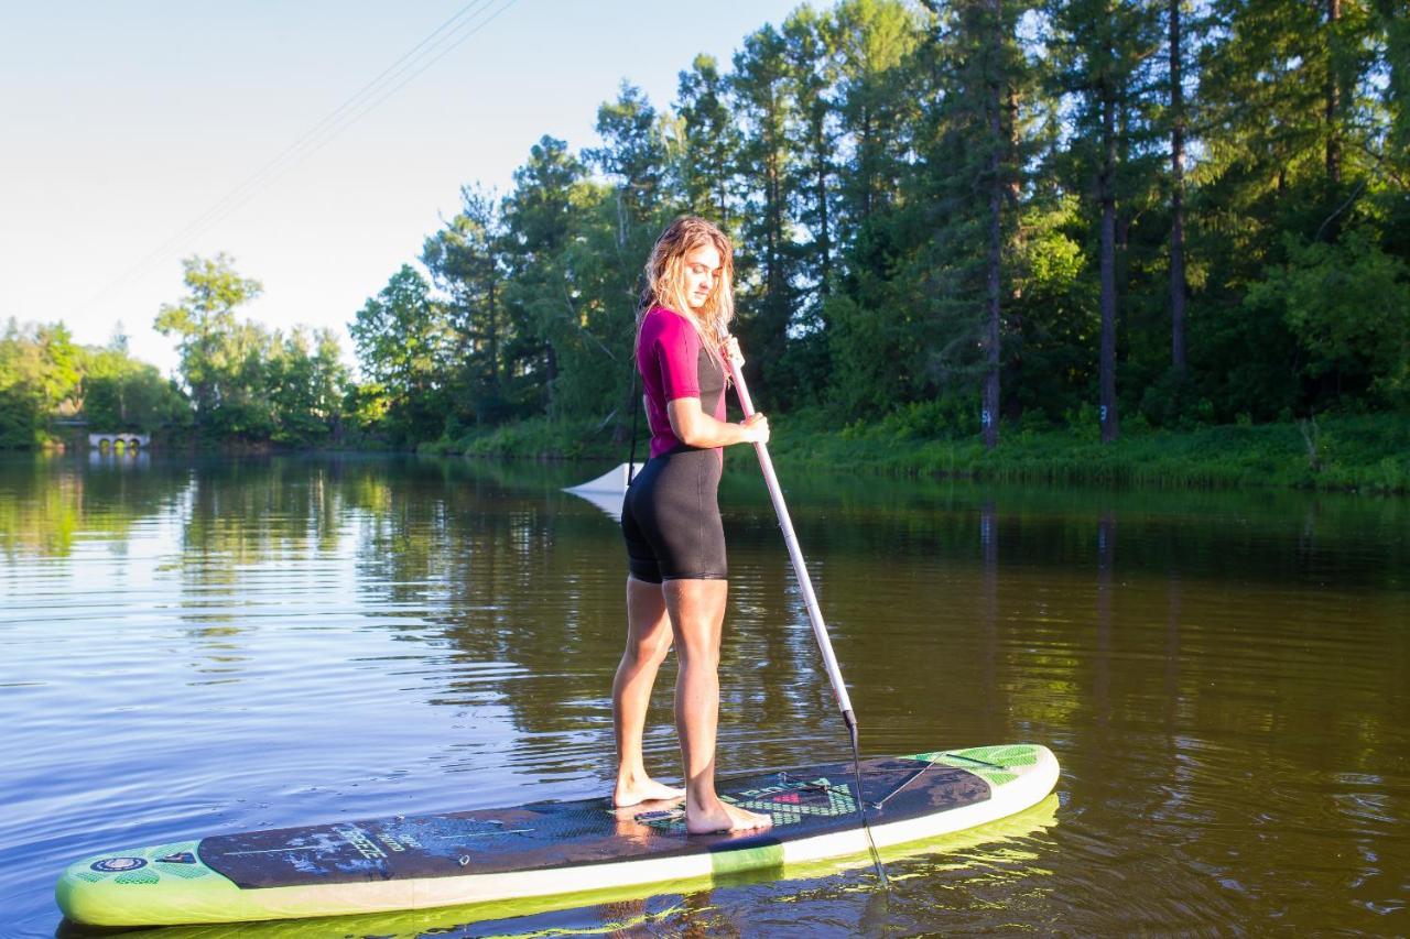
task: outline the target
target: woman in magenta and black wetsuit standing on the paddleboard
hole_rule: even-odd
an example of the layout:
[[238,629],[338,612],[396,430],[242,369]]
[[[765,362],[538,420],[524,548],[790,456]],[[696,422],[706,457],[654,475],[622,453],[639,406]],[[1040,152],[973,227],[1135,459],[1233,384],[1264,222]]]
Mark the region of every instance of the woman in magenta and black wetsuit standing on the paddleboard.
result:
[[[647,288],[636,336],[646,389],[651,458],[622,506],[629,575],[627,640],[612,684],[618,777],[612,801],[634,805],[685,797],[691,833],[766,828],[715,794],[719,640],[729,588],[716,488],[723,447],[767,443],[768,420],[725,420],[725,360],[737,352],[726,331],[735,314],[729,238],[702,219],[678,219],[646,264]],[[642,763],[642,729],[656,673],[671,643],[675,730],[685,791],[651,780]]]

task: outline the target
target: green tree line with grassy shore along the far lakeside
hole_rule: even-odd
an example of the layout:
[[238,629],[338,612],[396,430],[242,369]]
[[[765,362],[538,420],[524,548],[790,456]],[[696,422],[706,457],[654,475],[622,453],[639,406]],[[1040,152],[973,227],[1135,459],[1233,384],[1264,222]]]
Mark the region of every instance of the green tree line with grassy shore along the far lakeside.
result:
[[[697,213],[781,460],[1404,491],[1407,0],[845,0],[629,82],[598,145],[471,183],[331,331],[189,258],[166,378],[0,336],[0,446],[625,454],[642,264]],[[176,290],[173,289],[173,293]],[[141,313],[140,314],[145,314]]]

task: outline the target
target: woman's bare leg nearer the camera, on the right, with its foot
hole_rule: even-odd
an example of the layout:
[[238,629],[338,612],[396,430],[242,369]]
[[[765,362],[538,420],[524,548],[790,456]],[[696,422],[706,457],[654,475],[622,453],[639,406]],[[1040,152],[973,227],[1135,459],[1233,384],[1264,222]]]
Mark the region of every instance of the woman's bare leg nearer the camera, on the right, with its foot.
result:
[[664,587],[675,633],[675,730],[685,763],[685,829],[705,832],[767,828],[767,815],[746,812],[715,794],[715,730],[719,723],[719,637],[726,581],[680,579]]

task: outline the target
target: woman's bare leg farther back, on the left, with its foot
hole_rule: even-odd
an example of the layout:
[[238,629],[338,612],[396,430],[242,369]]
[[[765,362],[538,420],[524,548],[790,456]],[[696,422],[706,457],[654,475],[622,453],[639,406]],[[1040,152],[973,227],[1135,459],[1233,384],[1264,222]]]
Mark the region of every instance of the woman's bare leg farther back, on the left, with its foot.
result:
[[666,653],[671,650],[671,623],[660,584],[626,578],[626,651],[612,682],[612,728],[618,742],[612,804],[678,799],[685,791],[653,780],[642,761],[642,732],[651,704],[651,685]]

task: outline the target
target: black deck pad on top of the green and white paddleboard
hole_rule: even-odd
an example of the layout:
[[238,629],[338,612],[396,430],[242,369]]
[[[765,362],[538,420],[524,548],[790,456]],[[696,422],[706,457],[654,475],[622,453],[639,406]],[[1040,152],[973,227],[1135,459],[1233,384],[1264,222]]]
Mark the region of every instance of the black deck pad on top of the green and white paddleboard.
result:
[[[862,764],[863,798],[880,802],[924,764],[908,759]],[[721,797],[768,812],[771,829],[688,835],[678,809],[643,804],[613,809],[608,799],[536,802],[510,809],[389,818],[316,828],[217,835],[200,842],[212,870],[241,888],[354,883],[405,877],[556,869],[642,856],[737,850],[857,825],[852,766],[832,763],[730,780]],[[969,770],[931,766],[871,823],[987,799],[988,784]]]

